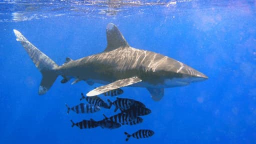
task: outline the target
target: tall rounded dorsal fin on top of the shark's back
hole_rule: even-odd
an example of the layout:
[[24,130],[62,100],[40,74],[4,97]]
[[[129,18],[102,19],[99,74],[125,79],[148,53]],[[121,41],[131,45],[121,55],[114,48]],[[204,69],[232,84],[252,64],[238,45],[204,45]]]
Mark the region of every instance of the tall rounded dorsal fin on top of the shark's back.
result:
[[106,40],[107,46],[104,52],[111,51],[119,47],[129,46],[122,33],[113,23],[108,23],[106,26]]

